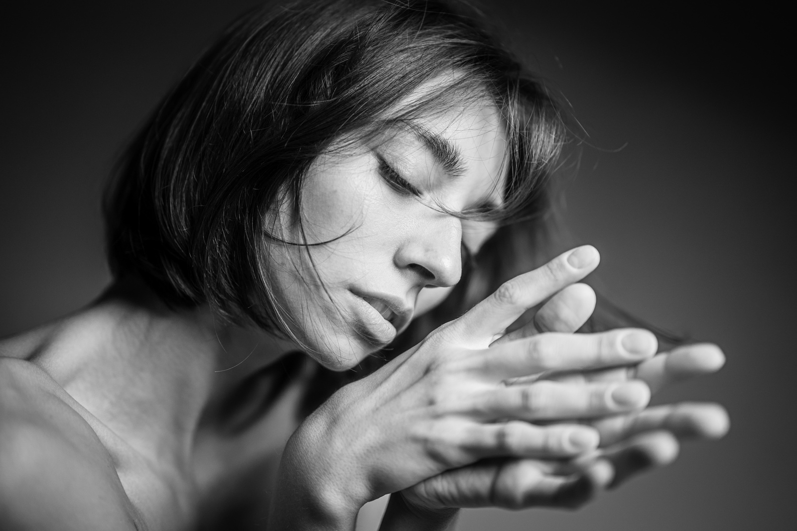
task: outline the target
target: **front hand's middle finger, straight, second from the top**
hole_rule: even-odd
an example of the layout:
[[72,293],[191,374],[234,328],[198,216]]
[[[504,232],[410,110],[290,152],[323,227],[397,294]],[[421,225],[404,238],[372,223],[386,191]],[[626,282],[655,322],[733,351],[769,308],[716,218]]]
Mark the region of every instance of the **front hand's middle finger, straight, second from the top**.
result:
[[652,357],[657,348],[656,336],[641,329],[626,328],[598,334],[550,332],[494,346],[474,361],[481,373],[512,378],[545,371],[638,363]]

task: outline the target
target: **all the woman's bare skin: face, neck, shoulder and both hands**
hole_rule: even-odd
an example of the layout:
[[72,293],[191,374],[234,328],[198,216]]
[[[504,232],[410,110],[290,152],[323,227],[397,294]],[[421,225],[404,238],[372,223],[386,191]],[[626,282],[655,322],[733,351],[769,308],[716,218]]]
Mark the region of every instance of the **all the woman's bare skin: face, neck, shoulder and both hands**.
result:
[[[308,241],[356,230],[310,248],[317,276],[291,248],[273,249],[269,273],[296,334],[329,369],[351,369],[440,303],[460,279],[461,245],[476,252],[495,230],[435,206],[501,202],[497,109],[419,126],[458,154],[456,174],[417,128],[324,154],[305,183]],[[276,225],[298,240],[295,220]],[[595,303],[577,283],[598,262],[584,246],[510,280],[304,421],[310,363],[265,411],[256,402],[275,381],[221,407],[294,343],[117,282],[92,306],[0,342],[0,527],[190,529],[229,502],[269,529],[352,529],[364,503],[395,492],[383,529],[445,529],[463,506],[578,506],[643,468],[630,452],[664,464],[673,434],[727,429],[714,406],[644,409],[651,390],[719,369],[717,347],[654,357],[646,330],[572,334]],[[532,325],[495,341],[546,300]],[[251,410],[245,428],[224,428]]]

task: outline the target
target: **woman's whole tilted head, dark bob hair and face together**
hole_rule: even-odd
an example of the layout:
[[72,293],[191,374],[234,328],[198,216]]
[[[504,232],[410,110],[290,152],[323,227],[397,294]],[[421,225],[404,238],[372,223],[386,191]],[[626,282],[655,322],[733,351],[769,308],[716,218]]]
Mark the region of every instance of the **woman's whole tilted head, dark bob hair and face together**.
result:
[[[426,334],[538,265],[565,127],[460,8],[294,2],[231,25],[120,162],[116,277],[340,370],[444,299]],[[466,262],[479,281],[460,282],[487,240]]]

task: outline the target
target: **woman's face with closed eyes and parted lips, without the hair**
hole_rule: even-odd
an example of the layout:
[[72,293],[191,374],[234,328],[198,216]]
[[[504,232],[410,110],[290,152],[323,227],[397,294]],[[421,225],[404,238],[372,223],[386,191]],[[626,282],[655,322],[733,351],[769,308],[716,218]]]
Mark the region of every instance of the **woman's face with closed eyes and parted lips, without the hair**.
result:
[[[504,154],[497,109],[470,103],[313,162],[304,238],[329,243],[272,248],[269,274],[320,363],[356,365],[446,298],[460,279],[461,245],[477,252],[495,226],[439,206],[499,205]],[[282,230],[303,240],[295,222]]]

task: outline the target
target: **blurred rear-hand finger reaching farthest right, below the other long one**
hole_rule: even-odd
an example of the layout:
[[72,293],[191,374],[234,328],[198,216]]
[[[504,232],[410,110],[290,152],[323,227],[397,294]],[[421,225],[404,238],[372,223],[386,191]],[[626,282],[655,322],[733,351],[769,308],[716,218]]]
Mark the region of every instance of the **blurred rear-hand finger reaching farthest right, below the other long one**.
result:
[[666,430],[678,439],[720,439],[728,432],[728,412],[719,404],[681,403],[596,420],[601,446],[607,447],[646,431]]

